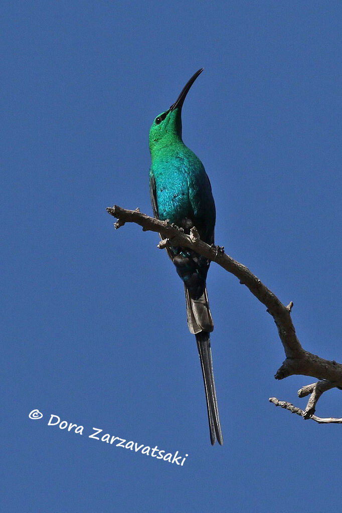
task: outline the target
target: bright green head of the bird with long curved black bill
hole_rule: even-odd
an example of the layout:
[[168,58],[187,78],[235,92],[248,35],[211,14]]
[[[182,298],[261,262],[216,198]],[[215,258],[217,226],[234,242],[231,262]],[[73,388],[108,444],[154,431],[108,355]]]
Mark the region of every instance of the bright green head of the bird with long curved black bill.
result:
[[196,71],[180,92],[175,103],[165,112],[158,114],[153,121],[149,134],[151,154],[154,150],[158,149],[158,147],[165,147],[182,140],[182,106],[190,87],[202,71],[203,68]]

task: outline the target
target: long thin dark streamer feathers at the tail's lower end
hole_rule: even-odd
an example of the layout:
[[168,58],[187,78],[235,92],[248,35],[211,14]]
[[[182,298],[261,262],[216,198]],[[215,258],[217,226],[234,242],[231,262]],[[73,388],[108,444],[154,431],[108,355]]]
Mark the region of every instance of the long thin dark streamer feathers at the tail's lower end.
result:
[[211,445],[214,445],[216,438],[218,443],[223,445],[222,430],[217,408],[213,361],[211,358],[210,336],[207,331],[200,331],[196,333],[195,336],[206,391]]

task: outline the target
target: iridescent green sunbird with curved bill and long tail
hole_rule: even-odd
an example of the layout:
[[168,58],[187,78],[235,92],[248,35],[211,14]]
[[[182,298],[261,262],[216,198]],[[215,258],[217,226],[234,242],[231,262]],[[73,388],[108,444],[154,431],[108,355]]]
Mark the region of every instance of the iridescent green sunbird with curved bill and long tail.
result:
[[[216,220],[211,184],[202,162],[182,139],[182,107],[200,68],[186,83],[171,107],[158,114],[149,132],[151,168],[149,173],[152,210],[156,219],[168,220],[189,234],[196,227],[200,239],[214,246]],[[161,238],[163,235],[159,234]],[[211,444],[223,444],[220,426],[210,333],[214,329],[206,287],[210,261],[195,251],[167,246],[167,252],[183,280],[187,321],[195,335],[206,392]]]

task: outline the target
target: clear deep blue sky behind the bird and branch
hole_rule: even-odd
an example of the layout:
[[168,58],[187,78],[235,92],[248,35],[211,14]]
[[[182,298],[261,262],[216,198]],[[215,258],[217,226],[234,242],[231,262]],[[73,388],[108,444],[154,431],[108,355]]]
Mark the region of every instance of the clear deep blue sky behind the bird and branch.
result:
[[[225,443],[211,447],[183,285],[151,214],[148,131],[188,78],[185,143],[216,202],[216,242],[281,301],[304,347],[342,361],[340,2],[3,2],[4,511],[328,511],[341,429],[303,421],[314,381],[266,308],[212,264]],[[41,420],[30,420],[33,409]],[[50,415],[83,435],[48,426]],[[342,416],[329,391],[320,416]],[[89,439],[188,457],[176,466]]]

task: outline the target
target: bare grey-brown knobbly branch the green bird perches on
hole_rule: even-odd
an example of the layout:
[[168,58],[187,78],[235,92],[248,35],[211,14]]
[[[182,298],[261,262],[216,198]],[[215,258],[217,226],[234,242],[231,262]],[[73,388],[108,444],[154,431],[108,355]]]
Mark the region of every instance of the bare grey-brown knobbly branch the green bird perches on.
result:
[[[174,246],[190,248],[200,255],[203,255],[203,257],[206,257],[208,260],[216,262],[226,271],[234,274],[240,284],[245,285],[250,292],[267,307],[268,313],[272,315],[277,326],[279,338],[283,344],[286,356],[285,361],[275,373],[275,379],[282,380],[294,374],[303,374],[304,376],[312,376],[319,380],[317,383],[307,385],[300,389],[301,394],[298,393],[299,397],[304,397],[309,393],[311,393],[311,397],[305,410],[297,408],[298,411],[302,412],[299,413],[299,415],[302,415],[305,419],[313,418],[315,405],[321,394],[330,388],[342,387],[342,365],[334,360],[330,361],[320,358],[316,354],[306,351],[301,346],[291,319],[293,302],[291,301],[288,306],[281,303],[276,295],[268,289],[248,267],[227,255],[223,251],[224,248],[209,246],[200,240],[195,227],[191,228],[190,235],[188,235],[168,221],[160,221],[151,218],[141,213],[139,209],[126,210],[114,205],[113,207],[108,207],[107,212],[118,220],[114,224],[115,229],[123,226],[125,223],[136,223],[142,226],[144,231],[155,231],[160,234],[163,238],[158,244],[160,249],[172,243]],[[310,390],[310,392],[308,390]],[[278,401],[276,398],[271,399]],[[283,407],[290,409],[287,406]],[[293,406],[293,408],[295,408],[295,406]],[[292,410],[290,409],[290,411]],[[298,411],[296,411],[296,413],[298,413]],[[339,419],[331,420],[331,422],[337,421],[339,421]],[[316,422],[327,423],[328,420],[321,419],[320,421],[316,420]]]

